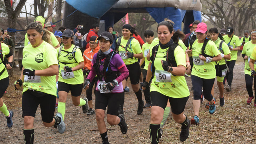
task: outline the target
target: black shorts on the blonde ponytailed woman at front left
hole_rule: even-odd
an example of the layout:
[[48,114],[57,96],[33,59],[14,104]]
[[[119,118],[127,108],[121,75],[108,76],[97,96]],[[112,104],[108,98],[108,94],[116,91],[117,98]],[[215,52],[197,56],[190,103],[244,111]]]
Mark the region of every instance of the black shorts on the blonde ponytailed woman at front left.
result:
[[27,90],[22,94],[23,116],[35,117],[37,107],[40,104],[43,122],[53,121],[56,96],[40,91]]

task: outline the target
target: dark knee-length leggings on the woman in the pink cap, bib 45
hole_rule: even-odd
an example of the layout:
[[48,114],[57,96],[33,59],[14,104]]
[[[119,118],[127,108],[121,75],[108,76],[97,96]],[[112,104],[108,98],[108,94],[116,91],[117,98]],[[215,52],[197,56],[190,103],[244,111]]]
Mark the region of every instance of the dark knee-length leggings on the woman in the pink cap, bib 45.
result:
[[213,95],[211,94],[213,84],[215,78],[212,79],[205,79],[200,78],[195,75],[191,75],[192,85],[194,87],[194,100],[200,100],[202,94],[202,87],[203,87],[203,96],[207,101],[211,101],[213,99]]

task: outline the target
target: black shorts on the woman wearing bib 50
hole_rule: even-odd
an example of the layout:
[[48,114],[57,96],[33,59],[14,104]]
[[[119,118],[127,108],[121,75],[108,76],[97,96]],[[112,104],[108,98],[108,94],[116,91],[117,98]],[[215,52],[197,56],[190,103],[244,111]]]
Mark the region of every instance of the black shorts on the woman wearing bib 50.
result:
[[174,114],[181,114],[186,106],[189,96],[184,98],[171,98],[157,91],[150,92],[151,106],[159,106],[165,109],[168,99],[171,104],[171,112]]

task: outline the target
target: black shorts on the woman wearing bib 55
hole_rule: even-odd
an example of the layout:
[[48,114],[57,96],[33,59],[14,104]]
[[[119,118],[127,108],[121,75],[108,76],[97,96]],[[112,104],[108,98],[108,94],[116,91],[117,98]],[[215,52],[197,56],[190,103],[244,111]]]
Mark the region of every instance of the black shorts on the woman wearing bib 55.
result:
[[82,93],[83,84],[71,85],[71,84],[67,84],[65,82],[59,82],[58,89],[59,89],[59,91],[66,91],[67,93],[69,93],[69,91],[71,91],[72,96],[78,97]]

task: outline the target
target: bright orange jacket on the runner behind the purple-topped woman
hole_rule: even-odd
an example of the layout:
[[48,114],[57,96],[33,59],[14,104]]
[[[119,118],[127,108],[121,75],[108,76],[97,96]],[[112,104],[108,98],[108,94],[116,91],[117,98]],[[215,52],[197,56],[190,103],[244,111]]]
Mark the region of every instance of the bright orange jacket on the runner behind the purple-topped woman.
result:
[[84,63],[85,63],[85,67],[84,69],[88,69],[88,70],[91,70],[91,61],[92,61],[92,58],[94,56],[95,53],[98,53],[98,51],[100,50],[100,46],[98,45],[95,49],[91,49],[91,47],[89,47],[88,49],[86,49],[84,51],[84,54],[83,54],[83,58],[84,58]]

